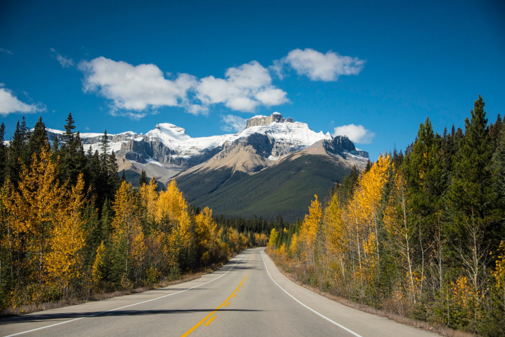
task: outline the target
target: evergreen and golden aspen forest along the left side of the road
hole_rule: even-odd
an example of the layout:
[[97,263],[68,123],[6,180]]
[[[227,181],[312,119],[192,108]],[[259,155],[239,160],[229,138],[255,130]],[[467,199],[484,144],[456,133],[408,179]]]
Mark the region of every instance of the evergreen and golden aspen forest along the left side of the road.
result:
[[0,126],[0,310],[150,287],[266,245],[264,233],[218,227],[175,181],[159,192],[143,174],[134,189],[107,132],[85,152],[66,122],[53,144],[41,118],[32,130],[23,118],[7,145]]

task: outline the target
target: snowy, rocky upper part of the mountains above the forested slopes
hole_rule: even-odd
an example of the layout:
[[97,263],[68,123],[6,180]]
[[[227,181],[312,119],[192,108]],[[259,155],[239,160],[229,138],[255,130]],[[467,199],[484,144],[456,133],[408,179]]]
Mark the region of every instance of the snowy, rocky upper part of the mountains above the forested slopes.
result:
[[[63,131],[47,129],[49,139]],[[140,173],[167,182],[179,172],[212,159],[214,165],[234,166],[246,173],[255,173],[274,164],[286,155],[325,140],[329,133],[314,132],[306,123],[284,119],[281,114],[255,116],[247,120],[244,130],[226,135],[191,137],[183,128],[170,123],[157,124],[145,134],[128,131],[109,135],[110,150],[116,153],[119,170]],[[103,134],[82,133],[84,150],[100,149]],[[355,155],[368,157],[364,151],[352,149]],[[243,151],[245,150],[245,152]],[[240,156],[236,156],[237,153]],[[251,155],[244,155],[244,153]],[[235,157],[234,159],[231,159]],[[226,158],[225,160],[221,160]]]

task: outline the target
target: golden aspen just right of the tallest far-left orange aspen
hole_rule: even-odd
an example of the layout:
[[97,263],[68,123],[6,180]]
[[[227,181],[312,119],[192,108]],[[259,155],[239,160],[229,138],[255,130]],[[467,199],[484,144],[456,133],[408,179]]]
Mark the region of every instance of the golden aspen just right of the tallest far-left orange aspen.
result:
[[77,178],[76,186],[72,187],[67,203],[61,205],[57,212],[49,252],[45,257],[47,283],[59,285],[68,293],[71,280],[78,279],[83,264],[82,248],[85,246],[86,233],[83,229],[83,209],[86,203],[83,193],[84,179],[82,174]]

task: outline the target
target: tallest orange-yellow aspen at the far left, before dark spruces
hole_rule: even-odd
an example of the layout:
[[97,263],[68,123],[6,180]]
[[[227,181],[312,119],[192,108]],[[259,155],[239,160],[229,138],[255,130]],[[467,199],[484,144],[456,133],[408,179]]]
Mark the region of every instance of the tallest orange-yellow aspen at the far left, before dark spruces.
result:
[[64,208],[66,188],[58,182],[58,162],[52,160],[48,145],[34,155],[30,167],[22,166],[18,191],[12,193],[12,209],[16,221],[13,231],[24,237],[24,252],[30,278],[45,282],[44,261],[51,244],[55,223]]

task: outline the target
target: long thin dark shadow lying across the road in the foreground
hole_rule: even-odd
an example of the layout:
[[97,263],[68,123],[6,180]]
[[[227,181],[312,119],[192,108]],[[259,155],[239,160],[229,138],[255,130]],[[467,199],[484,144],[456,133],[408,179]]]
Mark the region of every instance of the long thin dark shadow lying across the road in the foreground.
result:
[[12,323],[41,322],[51,319],[74,319],[80,317],[97,316],[141,316],[141,315],[159,315],[159,314],[184,314],[191,312],[212,312],[212,311],[263,311],[252,309],[179,309],[179,310],[116,310],[116,311],[87,311],[87,312],[62,312],[54,314],[30,314],[25,316],[11,317],[0,320],[0,326]]

